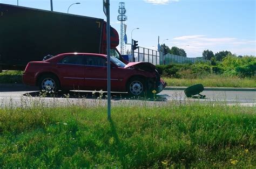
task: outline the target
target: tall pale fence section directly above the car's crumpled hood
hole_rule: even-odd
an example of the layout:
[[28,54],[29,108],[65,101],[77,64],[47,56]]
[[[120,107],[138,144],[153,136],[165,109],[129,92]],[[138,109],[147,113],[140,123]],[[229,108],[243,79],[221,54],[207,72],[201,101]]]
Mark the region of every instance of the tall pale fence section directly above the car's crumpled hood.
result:
[[150,62],[153,65],[160,65],[160,52],[150,50],[149,48],[138,47],[134,51],[135,61]]

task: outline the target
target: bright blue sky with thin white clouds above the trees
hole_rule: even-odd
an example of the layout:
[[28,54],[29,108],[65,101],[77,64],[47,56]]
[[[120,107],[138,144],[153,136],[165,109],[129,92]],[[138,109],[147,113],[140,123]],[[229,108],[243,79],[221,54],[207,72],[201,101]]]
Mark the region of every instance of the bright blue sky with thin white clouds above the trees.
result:
[[[50,10],[50,0],[18,0],[20,6]],[[96,18],[106,17],[102,0],[53,0],[53,10]],[[188,57],[200,57],[206,49],[228,50],[256,56],[255,0],[110,0],[111,26],[120,34],[119,2],[125,2],[127,38],[155,50],[160,44],[185,48]],[[17,5],[17,0],[0,0]],[[128,41],[128,43],[130,43]],[[189,45],[189,46],[188,46]],[[130,45],[126,45],[130,48]]]

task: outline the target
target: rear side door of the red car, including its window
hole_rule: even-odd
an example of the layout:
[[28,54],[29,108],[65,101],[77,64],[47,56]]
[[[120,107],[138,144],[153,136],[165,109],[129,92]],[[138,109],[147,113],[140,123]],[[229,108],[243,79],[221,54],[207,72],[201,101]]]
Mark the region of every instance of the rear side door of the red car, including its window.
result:
[[84,55],[67,55],[57,63],[60,85],[69,90],[84,89]]

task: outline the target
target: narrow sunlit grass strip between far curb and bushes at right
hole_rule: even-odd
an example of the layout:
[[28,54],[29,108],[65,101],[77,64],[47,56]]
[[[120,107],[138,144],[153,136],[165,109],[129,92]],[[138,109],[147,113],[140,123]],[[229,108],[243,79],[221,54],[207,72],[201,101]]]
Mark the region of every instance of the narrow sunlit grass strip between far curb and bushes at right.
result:
[[256,88],[256,78],[232,78],[218,75],[209,75],[196,79],[163,78],[168,86],[191,86],[198,83],[204,87],[247,87]]

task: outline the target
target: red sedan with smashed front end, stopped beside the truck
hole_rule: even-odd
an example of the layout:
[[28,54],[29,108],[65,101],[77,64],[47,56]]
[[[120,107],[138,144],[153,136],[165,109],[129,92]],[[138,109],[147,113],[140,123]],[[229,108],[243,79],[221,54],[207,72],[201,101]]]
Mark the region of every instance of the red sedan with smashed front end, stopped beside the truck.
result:
[[[106,55],[64,53],[44,61],[31,61],[23,82],[41,90],[107,90]],[[166,86],[156,67],[148,62],[122,61],[111,57],[111,91],[126,91],[138,96],[159,93]]]

